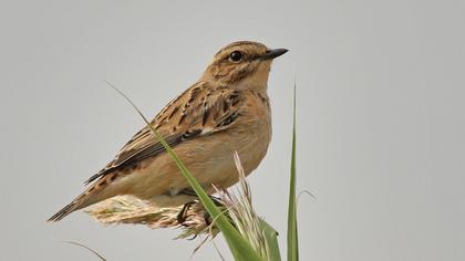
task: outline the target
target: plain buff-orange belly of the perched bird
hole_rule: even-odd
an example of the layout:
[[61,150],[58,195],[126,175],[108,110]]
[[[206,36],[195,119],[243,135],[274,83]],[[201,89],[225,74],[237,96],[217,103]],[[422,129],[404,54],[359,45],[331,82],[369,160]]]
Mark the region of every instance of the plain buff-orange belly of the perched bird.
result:
[[[186,140],[176,146],[174,152],[208,192],[214,192],[211,185],[228,188],[238,181],[234,152],[238,153],[246,175],[258,167],[267,153],[271,137],[269,122],[254,124],[255,128],[230,128]],[[148,159],[146,167],[122,179],[126,179],[127,194],[145,199],[172,197],[174,191],[190,188],[167,154]]]

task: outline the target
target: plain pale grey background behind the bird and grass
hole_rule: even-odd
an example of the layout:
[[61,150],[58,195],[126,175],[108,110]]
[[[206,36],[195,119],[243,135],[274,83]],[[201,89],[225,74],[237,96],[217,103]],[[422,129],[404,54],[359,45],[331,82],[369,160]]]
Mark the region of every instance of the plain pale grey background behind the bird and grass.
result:
[[[464,1],[1,1],[0,260],[189,260],[199,240],[79,212],[83,189],[223,45],[287,48],[249,180],[281,233],[298,88],[301,260],[465,260]],[[217,244],[231,260],[224,240]],[[193,260],[219,260],[211,244]]]

